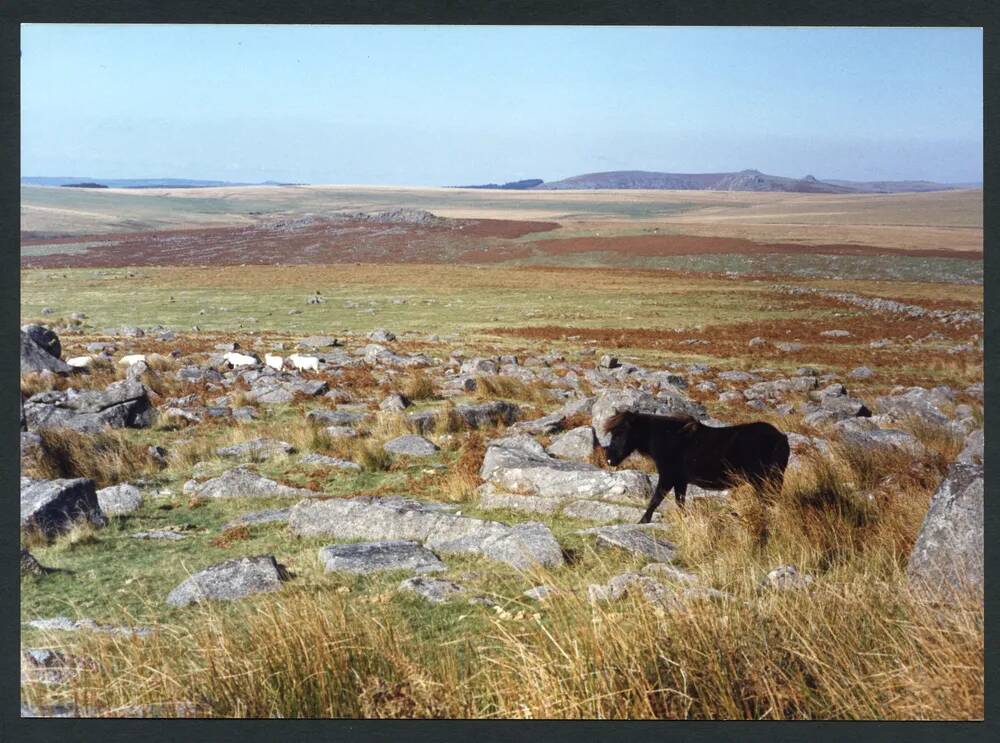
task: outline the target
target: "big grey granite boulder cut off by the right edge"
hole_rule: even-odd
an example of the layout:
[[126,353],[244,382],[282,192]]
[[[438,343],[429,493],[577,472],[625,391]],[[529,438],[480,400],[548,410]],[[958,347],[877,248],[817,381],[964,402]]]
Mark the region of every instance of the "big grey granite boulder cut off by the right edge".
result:
[[935,594],[983,595],[982,464],[951,466],[910,553],[910,579]]

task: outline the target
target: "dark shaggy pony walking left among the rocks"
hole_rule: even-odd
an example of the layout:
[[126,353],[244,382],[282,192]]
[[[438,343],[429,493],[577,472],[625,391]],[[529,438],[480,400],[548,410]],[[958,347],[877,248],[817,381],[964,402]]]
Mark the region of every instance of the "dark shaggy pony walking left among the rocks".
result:
[[746,481],[760,493],[769,484],[780,489],[788,466],[788,437],[770,423],[713,428],[690,416],[624,412],[612,416],[604,432],[611,435],[604,449],[609,466],[618,466],[634,451],[656,463],[659,480],[642,524],[671,488],[680,506],[688,483],[725,490]]

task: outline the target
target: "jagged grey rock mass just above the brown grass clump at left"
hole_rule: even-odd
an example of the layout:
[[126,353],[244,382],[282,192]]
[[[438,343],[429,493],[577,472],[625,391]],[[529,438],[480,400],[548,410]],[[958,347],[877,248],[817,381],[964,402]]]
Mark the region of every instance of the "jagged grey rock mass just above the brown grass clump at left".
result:
[[105,427],[146,428],[156,410],[146,387],[135,379],[114,382],[103,390],[49,390],[32,395],[24,404],[28,428],[65,426],[93,433]]

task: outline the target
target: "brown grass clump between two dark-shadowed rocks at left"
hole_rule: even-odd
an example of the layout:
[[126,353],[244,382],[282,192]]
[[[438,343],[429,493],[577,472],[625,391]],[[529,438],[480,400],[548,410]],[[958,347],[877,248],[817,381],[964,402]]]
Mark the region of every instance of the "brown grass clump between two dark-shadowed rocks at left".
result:
[[158,469],[145,447],[130,443],[121,431],[82,433],[70,428],[42,428],[38,435],[40,451],[27,467],[37,477],[89,477],[102,488]]

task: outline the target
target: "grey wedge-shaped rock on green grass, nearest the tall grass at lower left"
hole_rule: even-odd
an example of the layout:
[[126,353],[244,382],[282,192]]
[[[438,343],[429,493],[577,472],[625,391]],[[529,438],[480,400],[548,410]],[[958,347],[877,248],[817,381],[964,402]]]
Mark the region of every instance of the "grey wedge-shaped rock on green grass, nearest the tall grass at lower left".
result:
[[208,600],[237,601],[279,590],[284,577],[284,569],[272,555],[226,560],[181,583],[169,593],[167,604],[180,607]]

